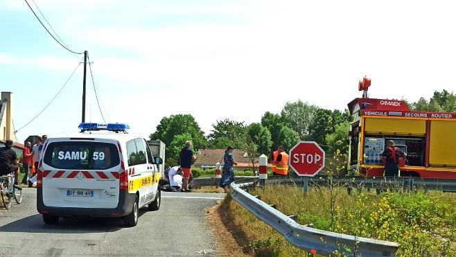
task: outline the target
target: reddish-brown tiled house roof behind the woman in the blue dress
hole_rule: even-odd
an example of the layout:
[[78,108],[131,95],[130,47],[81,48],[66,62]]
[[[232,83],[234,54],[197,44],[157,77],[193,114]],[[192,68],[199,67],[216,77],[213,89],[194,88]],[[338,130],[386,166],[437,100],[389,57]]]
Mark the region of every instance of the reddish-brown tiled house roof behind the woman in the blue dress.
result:
[[[200,154],[198,154],[198,159],[196,159],[196,166],[208,165],[215,166],[216,163],[220,162],[220,165],[225,164],[223,161],[223,156],[225,155],[225,149],[202,149]],[[250,157],[247,157],[244,150],[234,149],[233,150],[233,159],[238,163],[238,167],[251,167],[252,160]],[[255,166],[258,166],[258,158],[255,158]]]

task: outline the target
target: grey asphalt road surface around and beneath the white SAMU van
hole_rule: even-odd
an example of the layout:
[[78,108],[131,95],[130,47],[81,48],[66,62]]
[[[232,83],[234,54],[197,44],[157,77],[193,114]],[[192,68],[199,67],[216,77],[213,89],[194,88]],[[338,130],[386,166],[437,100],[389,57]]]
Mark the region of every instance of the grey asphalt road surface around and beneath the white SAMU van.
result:
[[204,215],[225,194],[161,193],[159,211],[141,209],[137,227],[119,218],[46,225],[35,188],[24,188],[22,204],[0,207],[0,256],[220,256]]

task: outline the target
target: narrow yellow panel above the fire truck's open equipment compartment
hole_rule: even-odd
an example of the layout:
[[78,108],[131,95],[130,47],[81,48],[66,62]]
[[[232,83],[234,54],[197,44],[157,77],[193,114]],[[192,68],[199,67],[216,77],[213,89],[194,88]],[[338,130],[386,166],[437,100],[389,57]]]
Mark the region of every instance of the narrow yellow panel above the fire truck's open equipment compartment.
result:
[[426,134],[426,121],[398,118],[366,118],[365,132],[368,134],[424,136]]

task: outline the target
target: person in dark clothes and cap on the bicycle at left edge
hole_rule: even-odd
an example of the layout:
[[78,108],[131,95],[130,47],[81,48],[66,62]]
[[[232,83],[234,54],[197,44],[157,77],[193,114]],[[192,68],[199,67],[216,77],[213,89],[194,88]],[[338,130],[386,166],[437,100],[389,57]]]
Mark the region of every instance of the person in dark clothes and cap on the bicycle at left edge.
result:
[[15,150],[11,149],[12,140],[5,141],[5,147],[0,148],[0,176],[8,175],[15,172],[15,185],[18,190],[22,190],[19,186],[19,161]]

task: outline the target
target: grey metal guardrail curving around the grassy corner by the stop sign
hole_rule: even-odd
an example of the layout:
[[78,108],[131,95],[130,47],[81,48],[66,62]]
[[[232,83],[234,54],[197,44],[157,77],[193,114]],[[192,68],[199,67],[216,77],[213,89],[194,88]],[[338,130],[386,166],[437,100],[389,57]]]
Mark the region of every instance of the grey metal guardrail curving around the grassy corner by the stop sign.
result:
[[[194,179],[193,186],[211,186],[220,179]],[[242,188],[256,186],[258,177],[236,178],[231,183],[231,197],[257,218],[281,233],[295,247],[306,251],[315,250],[317,254],[330,255],[337,251],[348,256],[396,256],[398,244],[385,240],[360,238],[341,233],[315,229],[295,222],[295,219],[277,211],[269,204],[245,192]],[[265,184],[292,183],[300,186],[327,186],[332,183],[343,188],[385,189],[405,186],[410,189],[443,190],[456,192],[456,179],[423,179],[419,177],[360,177],[317,175],[315,177],[276,177],[261,181]],[[306,188],[306,187],[304,187]]]

